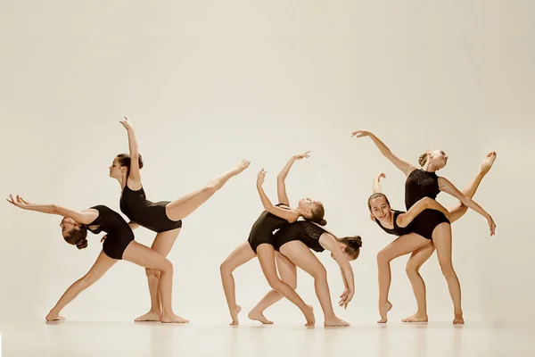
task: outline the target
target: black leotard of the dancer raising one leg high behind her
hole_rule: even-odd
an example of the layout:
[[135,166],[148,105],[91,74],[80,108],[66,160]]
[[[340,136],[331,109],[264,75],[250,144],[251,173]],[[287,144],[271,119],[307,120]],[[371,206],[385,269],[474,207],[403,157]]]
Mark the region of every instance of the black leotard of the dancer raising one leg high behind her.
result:
[[154,232],[166,232],[182,227],[182,220],[169,220],[165,207],[169,201],[152,203],[146,199],[144,188],[131,190],[128,185],[120,196],[120,211],[140,226]]

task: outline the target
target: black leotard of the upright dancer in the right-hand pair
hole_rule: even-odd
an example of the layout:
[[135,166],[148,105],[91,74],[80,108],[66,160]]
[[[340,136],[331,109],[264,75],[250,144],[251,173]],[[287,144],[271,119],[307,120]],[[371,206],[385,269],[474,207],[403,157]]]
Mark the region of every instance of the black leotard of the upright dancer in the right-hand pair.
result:
[[[405,206],[408,210],[420,199],[429,197],[434,200],[439,193],[439,177],[435,172],[413,170],[405,181]],[[434,228],[444,222],[449,223],[444,213],[427,209],[416,216],[411,226],[416,234],[432,239]]]

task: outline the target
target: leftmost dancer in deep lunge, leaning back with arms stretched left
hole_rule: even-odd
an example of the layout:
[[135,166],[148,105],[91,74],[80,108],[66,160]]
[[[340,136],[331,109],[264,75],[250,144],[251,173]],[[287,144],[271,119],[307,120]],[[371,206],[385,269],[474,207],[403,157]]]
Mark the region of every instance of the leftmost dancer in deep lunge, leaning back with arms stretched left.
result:
[[132,229],[118,212],[103,205],[96,205],[84,211],[74,211],[56,204],[29,203],[19,195],[16,197],[9,195],[7,201],[23,210],[63,216],[60,223],[62,236],[67,243],[76,245],[78,249],[87,247],[87,230],[94,234],[107,233],[107,237],[103,240],[103,250],[96,258],[96,262],[84,277],[79,278],[67,289],[46,315],[45,320],[65,320],[60,315],[62,309],[87,287],[102,278],[116,262],[125,260],[160,272],[161,284],[158,286],[158,292],[161,295],[162,310],[159,320],[165,323],[185,322],[173,313],[171,306],[173,265],[160,253],[137,243]]

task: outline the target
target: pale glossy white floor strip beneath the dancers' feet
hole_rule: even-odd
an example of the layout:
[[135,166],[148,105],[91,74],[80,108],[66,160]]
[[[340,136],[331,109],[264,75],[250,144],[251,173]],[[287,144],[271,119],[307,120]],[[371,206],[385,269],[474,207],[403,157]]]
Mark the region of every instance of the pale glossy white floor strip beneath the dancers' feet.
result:
[[67,321],[0,325],[1,356],[534,356],[535,328],[504,322],[307,329]]

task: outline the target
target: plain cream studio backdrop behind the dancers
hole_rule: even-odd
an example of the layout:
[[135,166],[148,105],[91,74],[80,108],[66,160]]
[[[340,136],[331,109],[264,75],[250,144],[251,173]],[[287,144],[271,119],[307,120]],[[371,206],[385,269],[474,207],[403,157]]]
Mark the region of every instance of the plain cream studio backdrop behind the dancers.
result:
[[[467,212],[453,226],[453,260],[465,320],[535,317],[532,252],[534,5],[528,1],[370,3],[355,1],[6,1],[0,5],[2,194],[73,209],[106,204],[119,212],[120,187],[108,178],[113,157],[128,152],[127,115],[144,157],[152,201],[202,187],[241,159],[251,161],[184,220],[169,253],[173,303],[195,322],[230,322],[219,265],[245,241],[262,212],[257,172],[276,201],[276,174],[293,154],[310,150],[288,175],[292,205],[325,204],[328,228],[360,235],[353,262],[356,295],[335,311],[374,324],[376,253],[393,237],[368,218],[372,179],[404,208],[404,175],[383,158],[368,129],[399,157],[417,163],[442,149],[439,174],[464,188],[485,154],[498,159],[474,199],[496,221]],[[442,193],[446,206],[456,200]],[[0,205],[1,320],[44,320],[65,289],[101,250],[89,235],[81,251],[61,236],[61,217]],[[136,230],[151,245],[154,233]],[[328,253],[333,303],[340,272]],[[416,311],[402,257],[391,264],[390,319]],[[452,320],[452,303],[436,254],[425,263],[430,320]],[[268,292],[259,263],[235,270],[241,320]],[[312,279],[298,292],[323,322]],[[69,320],[130,321],[148,311],[144,269],[119,262],[62,311]],[[268,318],[295,325],[287,301]]]

